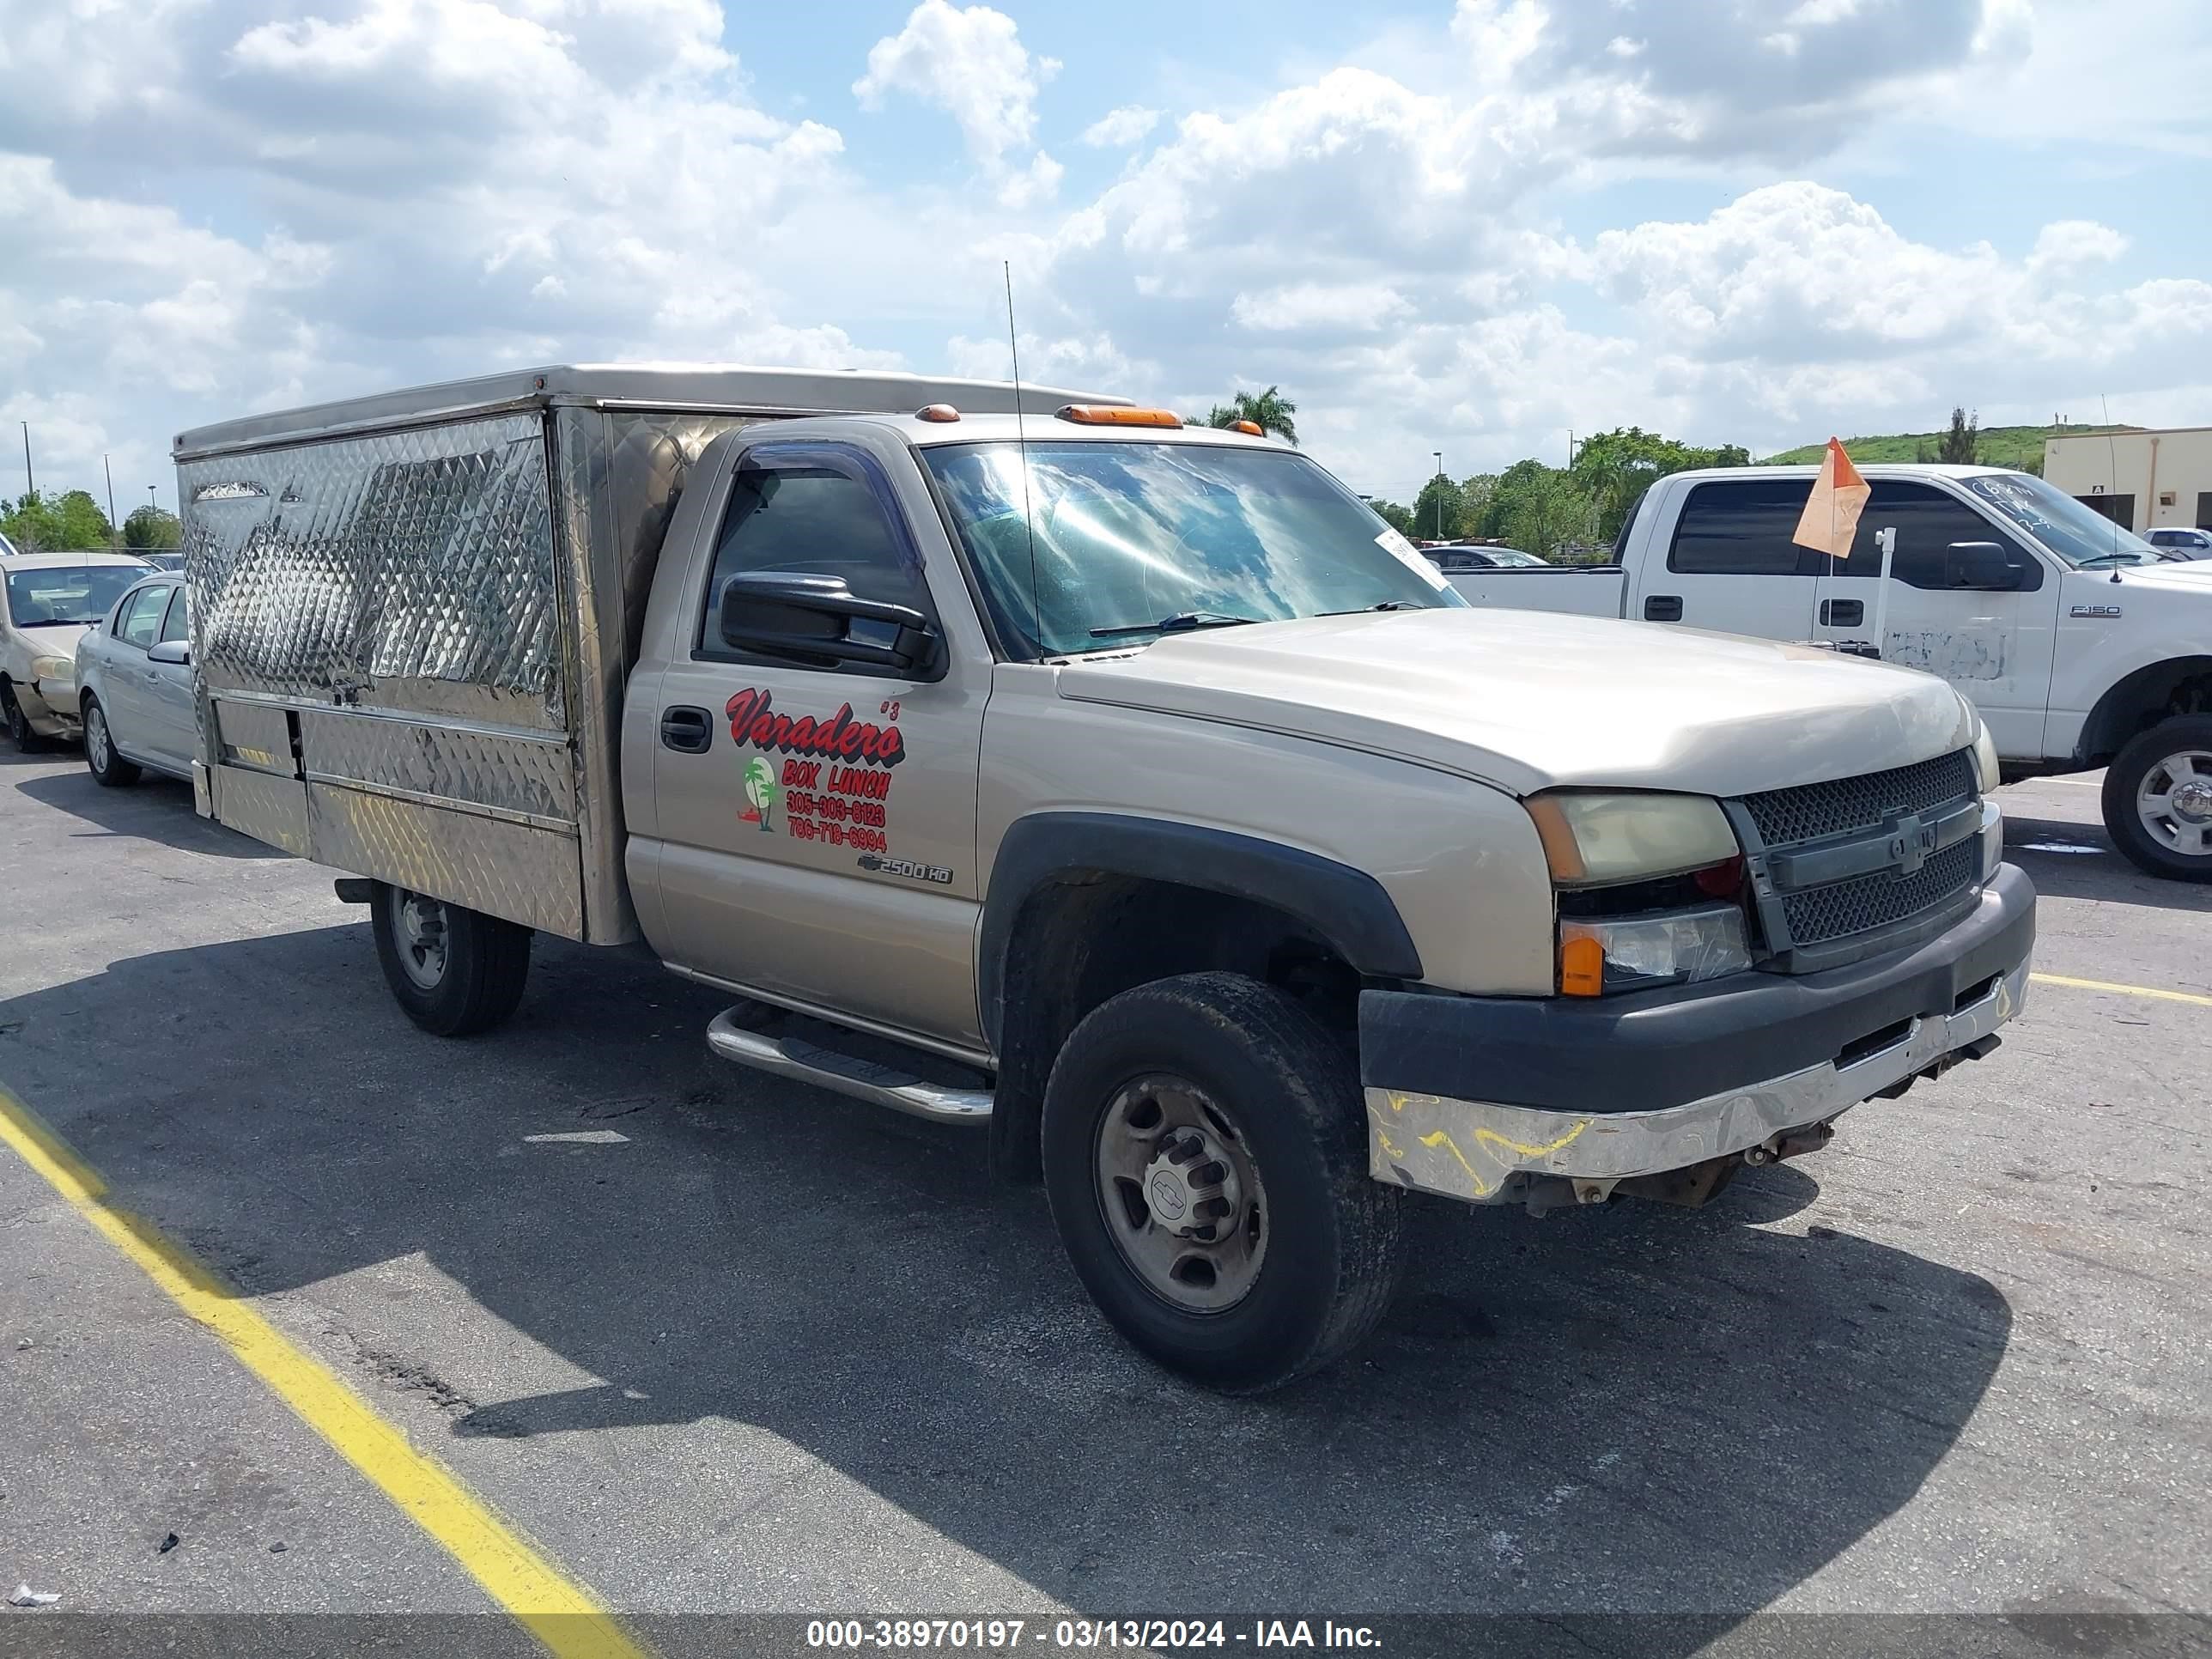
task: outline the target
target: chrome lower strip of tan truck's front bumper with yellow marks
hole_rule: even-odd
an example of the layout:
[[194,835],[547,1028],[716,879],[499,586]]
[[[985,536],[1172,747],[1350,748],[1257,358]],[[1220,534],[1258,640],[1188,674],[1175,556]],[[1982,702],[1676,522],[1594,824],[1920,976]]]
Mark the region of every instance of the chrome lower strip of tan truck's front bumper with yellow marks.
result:
[[1666,1175],[1825,1124],[2020,1013],[2028,962],[1949,1015],[1909,1022],[1893,1044],[1849,1064],[1823,1062],[1681,1106],[1641,1113],[1559,1113],[1447,1095],[1367,1088],[1367,1168],[1378,1181],[1489,1203],[1515,1175],[1599,1183]]

